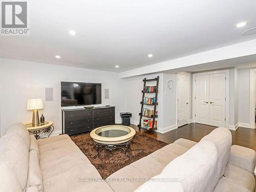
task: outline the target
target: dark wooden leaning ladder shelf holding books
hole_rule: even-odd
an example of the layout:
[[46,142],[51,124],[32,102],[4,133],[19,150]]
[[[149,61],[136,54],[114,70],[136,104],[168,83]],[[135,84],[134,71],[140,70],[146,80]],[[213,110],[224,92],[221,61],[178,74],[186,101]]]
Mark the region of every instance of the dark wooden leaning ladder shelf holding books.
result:
[[[156,89],[154,92],[148,92],[148,91],[145,91],[144,88],[146,87],[146,82],[152,82],[152,81],[156,81]],[[139,131],[141,129],[143,130],[147,130],[145,128],[143,128],[143,126],[141,125],[142,123],[142,117],[147,117],[147,118],[151,118],[152,119],[152,127],[148,130],[148,131],[156,131],[157,130],[157,127],[155,127],[155,118],[157,118],[157,115],[156,115],[156,109],[157,109],[157,105],[158,105],[158,102],[157,102],[157,94],[158,94],[158,83],[159,83],[159,76],[157,76],[157,78],[153,78],[153,79],[146,79],[144,78],[143,79],[143,83],[144,83],[144,86],[143,86],[143,91],[142,92],[142,101],[140,102],[141,104],[141,111],[139,113],[139,116],[140,116],[140,123],[138,124],[138,127],[139,127]],[[151,93],[151,94],[155,94],[155,102],[152,102],[151,104],[146,104],[144,103],[144,97],[145,97],[145,93]],[[143,115],[143,108],[144,108],[144,105],[153,105],[154,106],[154,114],[152,116],[144,116]]]

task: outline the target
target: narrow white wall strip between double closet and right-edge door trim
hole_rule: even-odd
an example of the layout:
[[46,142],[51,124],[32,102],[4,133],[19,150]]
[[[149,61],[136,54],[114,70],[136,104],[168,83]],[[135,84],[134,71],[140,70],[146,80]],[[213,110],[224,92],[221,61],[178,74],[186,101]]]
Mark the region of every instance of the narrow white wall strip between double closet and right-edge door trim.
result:
[[250,124],[250,69],[238,71],[238,121],[240,125]]

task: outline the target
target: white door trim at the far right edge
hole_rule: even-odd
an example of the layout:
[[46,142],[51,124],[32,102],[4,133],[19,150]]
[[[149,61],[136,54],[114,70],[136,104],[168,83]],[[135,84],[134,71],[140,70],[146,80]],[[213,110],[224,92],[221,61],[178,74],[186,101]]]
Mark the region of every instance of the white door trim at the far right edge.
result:
[[255,114],[255,77],[254,73],[256,72],[256,68],[250,69],[250,128],[255,129],[255,121],[254,121],[254,114]]

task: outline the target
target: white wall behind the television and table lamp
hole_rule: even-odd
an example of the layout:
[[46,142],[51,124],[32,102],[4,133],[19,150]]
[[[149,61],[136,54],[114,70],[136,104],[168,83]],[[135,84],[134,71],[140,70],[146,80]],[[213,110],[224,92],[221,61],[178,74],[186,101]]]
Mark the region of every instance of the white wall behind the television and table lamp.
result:
[[[39,115],[43,113],[60,131],[60,81],[102,83],[102,105],[116,106],[116,122],[121,121],[119,113],[126,111],[125,88],[118,73],[0,58],[1,133],[14,122],[31,121],[32,112],[26,109],[29,98],[43,98],[44,110]],[[53,88],[53,101],[45,101],[45,88]],[[104,99],[104,89],[110,89],[110,99]]]

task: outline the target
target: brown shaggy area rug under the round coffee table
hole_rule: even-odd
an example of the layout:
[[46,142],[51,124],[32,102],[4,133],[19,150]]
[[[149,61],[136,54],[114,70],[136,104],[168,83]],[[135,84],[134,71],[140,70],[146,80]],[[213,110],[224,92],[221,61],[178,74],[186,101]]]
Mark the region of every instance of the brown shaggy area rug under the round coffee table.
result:
[[130,148],[127,150],[129,158],[126,158],[124,152],[117,148],[112,152],[102,150],[100,156],[95,159],[94,156],[97,155],[97,152],[93,148],[93,139],[90,137],[90,133],[74,135],[71,136],[71,139],[97,168],[103,179],[109,177],[126,165],[129,165],[167,145],[165,142],[158,141],[136,132],[133,141],[130,143]]

